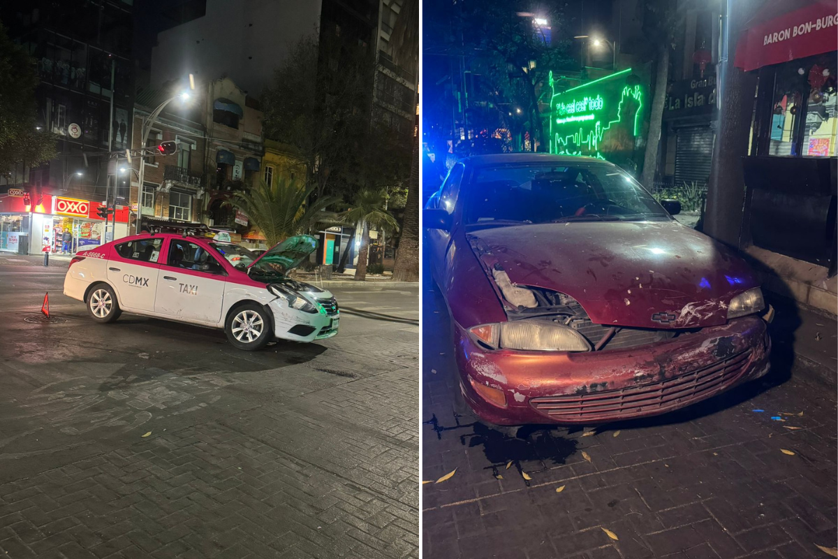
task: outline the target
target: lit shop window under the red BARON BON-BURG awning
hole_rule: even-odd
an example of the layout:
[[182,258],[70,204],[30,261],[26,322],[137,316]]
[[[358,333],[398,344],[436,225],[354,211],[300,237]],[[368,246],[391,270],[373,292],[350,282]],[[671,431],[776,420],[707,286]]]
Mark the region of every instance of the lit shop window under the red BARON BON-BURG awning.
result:
[[777,65],[768,155],[830,157],[838,153],[835,53]]

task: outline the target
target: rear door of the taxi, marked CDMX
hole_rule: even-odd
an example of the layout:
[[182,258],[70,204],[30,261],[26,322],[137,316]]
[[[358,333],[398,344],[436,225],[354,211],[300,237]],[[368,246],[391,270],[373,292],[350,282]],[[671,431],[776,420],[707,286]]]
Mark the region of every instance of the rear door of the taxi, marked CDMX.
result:
[[114,246],[107,261],[107,279],[116,289],[120,307],[154,311],[161,248],[163,237],[135,238]]

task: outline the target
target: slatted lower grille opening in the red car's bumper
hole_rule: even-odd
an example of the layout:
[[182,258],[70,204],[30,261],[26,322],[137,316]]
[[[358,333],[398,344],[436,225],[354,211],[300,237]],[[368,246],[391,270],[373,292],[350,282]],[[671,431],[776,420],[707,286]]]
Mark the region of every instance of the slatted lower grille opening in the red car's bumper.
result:
[[747,370],[750,356],[747,349],[670,379],[610,391],[533,398],[530,406],[563,422],[607,422],[669,411],[725,390]]

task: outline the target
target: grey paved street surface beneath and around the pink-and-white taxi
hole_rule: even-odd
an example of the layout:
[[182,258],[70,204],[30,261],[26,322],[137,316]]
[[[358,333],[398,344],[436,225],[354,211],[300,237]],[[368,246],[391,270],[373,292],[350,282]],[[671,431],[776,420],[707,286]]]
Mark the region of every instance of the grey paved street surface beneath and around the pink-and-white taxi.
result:
[[[0,267],[0,556],[418,556],[416,288],[250,353],[63,277]],[[66,322],[24,322],[46,289]]]

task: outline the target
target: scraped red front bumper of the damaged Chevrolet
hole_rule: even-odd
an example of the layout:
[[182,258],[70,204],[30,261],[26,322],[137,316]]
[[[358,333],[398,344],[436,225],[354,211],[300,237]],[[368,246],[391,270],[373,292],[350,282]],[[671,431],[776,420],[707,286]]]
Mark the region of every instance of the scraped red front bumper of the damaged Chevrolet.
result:
[[771,349],[758,316],[655,344],[584,353],[489,350],[458,326],[454,335],[463,397],[495,425],[595,425],[659,415],[764,375]]

